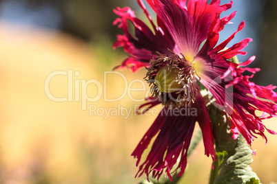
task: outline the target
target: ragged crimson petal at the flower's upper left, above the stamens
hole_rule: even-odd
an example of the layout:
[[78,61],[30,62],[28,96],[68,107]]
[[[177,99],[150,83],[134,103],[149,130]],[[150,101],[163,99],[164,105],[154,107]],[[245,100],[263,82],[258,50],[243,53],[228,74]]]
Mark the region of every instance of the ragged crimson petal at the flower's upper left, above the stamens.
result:
[[[152,21],[151,16],[145,9],[142,1],[138,1],[143,9],[143,12],[150,20],[154,33],[150,30],[143,21],[136,19],[134,12],[128,8],[116,8],[115,14],[120,18],[114,21],[114,25],[118,24],[119,28],[123,30],[123,35],[117,36],[117,41],[114,43],[113,48],[123,47],[124,51],[131,55],[136,62],[149,62],[152,58],[156,57],[156,51],[163,54],[170,54],[168,49],[174,49],[174,41],[170,34],[168,34],[166,27],[156,27]],[[134,36],[130,33],[128,21],[134,25]],[[123,62],[124,65],[125,62]],[[143,66],[143,65],[138,65]]]

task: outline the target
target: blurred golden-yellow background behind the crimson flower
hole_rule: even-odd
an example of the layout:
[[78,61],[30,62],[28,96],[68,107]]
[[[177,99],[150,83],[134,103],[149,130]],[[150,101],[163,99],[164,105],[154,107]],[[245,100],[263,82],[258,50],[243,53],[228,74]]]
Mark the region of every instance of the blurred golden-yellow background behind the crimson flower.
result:
[[[102,91],[101,99],[88,102],[86,110],[76,97],[82,92],[95,97],[99,87],[90,84],[82,89],[82,80],[95,79],[104,84],[104,72],[126,58],[122,49],[112,50],[116,34],[121,33],[112,26],[116,19],[112,9],[116,6],[130,6],[136,16],[146,20],[136,1],[0,1],[0,183],[110,184],[139,183],[143,179],[134,179],[138,168],[130,154],[156,116],[134,115],[134,106],[142,102],[134,102],[127,95],[117,102],[105,102]],[[245,29],[232,44],[254,38],[245,48],[249,54],[239,59],[257,57],[251,67],[262,69],[253,79],[260,85],[277,84],[276,8],[277,1],[272,0],[234,0],[234,8],[226,12],[238,10],[234,24],[227,25],[220,35],[223,41],[240,21],[246,21]],[[79,75],[72,76],[72,101],[53,102],[45,94],[45,79],[54,71],[67,72],[66,76],[52,78],[50,91],[57,97],[68,97],[70,70],[79,71]],[[128,84],[145,76],[144,69],[120,72]],[[108,98],[123,93],[121,76],[111,75],[105,84]],[[141,85],[134,82],[132,88]],[[136,99],[144,95],[145,91],[132,92]],[[90,114],[90,105],[123,106],[132,111],[127,118],[105,118]],[[265,124],[277,130],[276,120]],[[277,182],[277,137],[267,137],[267,146],[260,137],[252,146],[257,150],[252,168],[262,183]],[[180,183],[207,183],[211,164],[200,143],[189,157]]]

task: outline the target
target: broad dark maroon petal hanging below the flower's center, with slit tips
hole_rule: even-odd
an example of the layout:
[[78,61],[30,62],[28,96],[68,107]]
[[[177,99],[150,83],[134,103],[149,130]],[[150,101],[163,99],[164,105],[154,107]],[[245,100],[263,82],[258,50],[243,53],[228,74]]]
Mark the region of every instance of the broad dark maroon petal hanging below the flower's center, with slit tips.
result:
[[178,115],[178,112],[174,110],[163,108],[132,153],[132,156],[138,158],[136,162],[138,165],[143,151],[147,148],[152,138],[158,134],[150,153],[147,155],[147,159],[139,167],[139,176],[143,173],[149,176],[150,172],[153,171],[153,177],[159,178],[163,174],[163,169],[166,169],[168,176],[170,176],[169,171],[177,162],[181,152],[182,164],[180,164],[182,169],[185,170],[187,163],[187,152],[185,150],[188,149],[192,138],[195,122],[195,117],[185,117],[184,115]]

